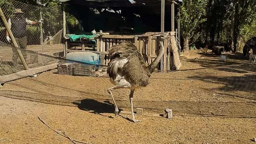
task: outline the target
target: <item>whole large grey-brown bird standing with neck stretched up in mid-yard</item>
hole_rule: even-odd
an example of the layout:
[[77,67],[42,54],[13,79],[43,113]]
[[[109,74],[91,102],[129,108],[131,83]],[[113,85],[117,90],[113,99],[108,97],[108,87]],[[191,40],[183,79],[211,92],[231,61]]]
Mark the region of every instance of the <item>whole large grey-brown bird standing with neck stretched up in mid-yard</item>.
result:
[[[162,34],[161,38],[166,37]],[[164,55],[164,45],[160,41],[159,55],[147,67],[141,53],[137,50],[132,42],[121,42],[109,49],[109,65],[107,73],[110,77],[110,82],[115,86],[108,89],[110,97],[113,99],[115,106],[115,116],[119,109],[116,105],[112,91],[116,89],[127,88],[130,89],[129,100],[132,111],[132,121],[134,123],[140,122],[136,120],[133,112],[133,94],[135,89],[146,87],[149,84],[149,77],[155,70],[159,60]]]

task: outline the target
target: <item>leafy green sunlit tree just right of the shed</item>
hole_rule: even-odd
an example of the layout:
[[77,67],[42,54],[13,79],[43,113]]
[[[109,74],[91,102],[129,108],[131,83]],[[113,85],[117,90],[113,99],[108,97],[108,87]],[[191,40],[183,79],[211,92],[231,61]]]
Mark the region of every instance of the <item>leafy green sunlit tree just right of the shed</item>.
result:
[[183,0],[180,7],[181,35],[184,38],[185,51],[200,36],[199,25],[206,19],[207,0]]

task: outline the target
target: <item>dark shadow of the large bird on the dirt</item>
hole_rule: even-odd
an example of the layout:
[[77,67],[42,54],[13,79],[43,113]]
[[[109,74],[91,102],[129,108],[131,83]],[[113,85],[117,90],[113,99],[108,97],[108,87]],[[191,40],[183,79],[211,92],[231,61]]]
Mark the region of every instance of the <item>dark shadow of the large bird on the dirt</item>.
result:
[[[94,99],[82,99],[72,103],[77,105],[78,109],[80,110],[90,111],[91,113],[99,114],[101,116],[105,116],[102,113],[113,113],[114,115],[114,111],[115,111],[114,105],[107,100],[105,100],[104,102],[99,102]],[[122,109],[119,109],[119,111],[121,110]],[[111,116],[106,116],[106,117],[113,118]]]

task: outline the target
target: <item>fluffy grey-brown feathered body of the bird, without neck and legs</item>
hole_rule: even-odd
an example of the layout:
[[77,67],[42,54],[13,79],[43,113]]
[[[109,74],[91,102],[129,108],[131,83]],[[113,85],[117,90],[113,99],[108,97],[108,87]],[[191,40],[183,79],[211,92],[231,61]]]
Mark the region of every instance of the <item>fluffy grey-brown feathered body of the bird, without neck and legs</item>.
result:
[[121,42],[109,49],[110,62],[107,73],[114,81],[119,75],[134,86],[147,86],[149,83],[148,67],[142,55],[132,42]]

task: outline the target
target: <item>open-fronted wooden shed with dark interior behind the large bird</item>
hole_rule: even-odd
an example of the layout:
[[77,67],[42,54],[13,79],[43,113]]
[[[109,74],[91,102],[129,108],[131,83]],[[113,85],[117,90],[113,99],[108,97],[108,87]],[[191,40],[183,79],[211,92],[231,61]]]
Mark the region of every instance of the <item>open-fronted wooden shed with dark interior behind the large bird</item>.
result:
[[[108,58],[108,51],[109,48],[113,45],[117,45],[122,41],[131,41],[135,46],[137,46],[138,50],[143,55],[143,58],[146,63],[150,64],[157,56],[160,44],[160,34],[164,33],[164,29],[167,28],[169,31],[168,33],[169,38],[165,39],[164,41],[164,47],[165,47],[165,53],[162,57],[158,70],[161,72],[167,72],[168,70],[172,70],[173,67],[175,67],[176,70],[179,69],[181,66],[179,55],[178,55],[178,48],[176,45],[176,39],[177,37],[180,37],[179,34],[179,21],[178,21],[178,29],[175,32],[174,29],[174,1],[176,0],[59,0],[63,4],[63,18],[65,21],[65,9],[89,9],[87,16],[84,16],[85,14],[80,9],[80,11],[74,12],[73,15],[75,15],[76,18],[79,20],[84,18],[85,20],[88,20],[90,17],[89,11],[105,11],[108,9],[108,11],[114,11],[116,12],[113,17],[113,15],[109,12],[103,13],[101,19],[104,19],[104,26],[98,24],[101,19],[95,19],[93,21],[90,21],[90,24],[88,24],[88,21],[86,21],[83,25],[83,29],[88,33],[91,32],[93,29],[92,27],[96,27],[96,31],[102,30],[103,33],[108,32],[109,35],[96,35],[94,38],[90,39],[84,39],[81,38],[80,42],[78,41],[70,41],[70,39],[64,40],[65,42],[65,54],[68,52],[73,51],[84,51],[84,50],[92,50],[92,51],[98,51],[101,52],[101,64],[102,65],[108,65],[109,58]],[[78,8],[79,7],[79,8]],[[169,20],[169,23],[165,23],[165,17],[166,12],[165,8],[169,10],[169,13],[167,13],[168,16],[171,16]],[[102,10],[103,9],[103,10]],[[151,9],[151,11],[149,11]],[[72,13],[72,11],[71,11]],[[96,13],[96,12],[95,12]],[[136,14],[135,14],[136,13]],[[139,14],[138,14],[139,13]],[[140,15],[142,17],[142,22],[135,22],[132,23],[131,21],[134,21],[134,15]],[[150,15],[149,17],[146,15]],[[159,16],[159,17],[158,17]],[[99,17],[97,14],[95,17]],[[119,17],[122,17],[124,22],[115,22],[113,24],[109,24],[109,18],[117,19],[117,21],[120,21],[118,19]],[[136,16],[137,17],[137,16]],[[150,18],[151,17],[151,18]],[[127,21],[126,19],[129,19]],[[151,21],[148,23],[148,21]],[[101,21],[102,22],[102,21]],[[143,25],[142,23],[146,23]],[[84,23],[84,22],[83,22]],[[103,23],[103,22],[102,22]],[[140,25],[141,24],[141,25]],[[115,25],[114,27],[117,27],[117,29],[113,30],[111,28],[111,25]],[[140,26],[138,26],[140,25]],[[159,26],[158,26],[159,25]],[[92,26],[92,27],[91,27]],[[64,22],[64,31],[65,31],[65,22]],[[88,28],[90,27],[90,28]],[[124,30],[121,29],[121,27],[125,27]],[[126,31],[127,29],[130,30]],[[135,27],[135,28],[133,28]],[[146,29],[143,29],[141,27],[146,27]],[[88,29],[87,29],[88,28]],[[135,30],[134,30],[135,29]],[[141,30],[143,29],[143,30]],[[110,32],[112,30],[112,32]],[[132,30],[132,31],[131,31]],[[148,30],[148,31],[147,31]],[[63,33],[64,36],[66,34],[66,31]],[[95,45],[88,44],[88,40],[95,40]],[[78,45],[78,46],[75,46]]]

